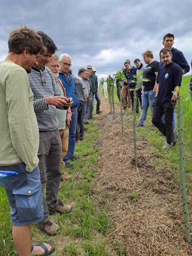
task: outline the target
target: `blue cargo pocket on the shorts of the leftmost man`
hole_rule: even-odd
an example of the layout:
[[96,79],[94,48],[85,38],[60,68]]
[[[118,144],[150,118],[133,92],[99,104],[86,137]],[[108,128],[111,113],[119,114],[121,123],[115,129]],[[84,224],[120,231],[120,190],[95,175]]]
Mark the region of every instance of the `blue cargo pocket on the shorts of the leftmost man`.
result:
[[41,183],[14,189],[17,215],[20,221],[28,221],[44,216]]

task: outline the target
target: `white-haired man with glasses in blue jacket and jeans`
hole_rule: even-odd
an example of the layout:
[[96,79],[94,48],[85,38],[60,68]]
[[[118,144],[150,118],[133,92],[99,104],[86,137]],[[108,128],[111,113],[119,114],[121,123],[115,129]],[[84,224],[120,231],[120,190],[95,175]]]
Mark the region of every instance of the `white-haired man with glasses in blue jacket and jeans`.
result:
[[77,124],[77,108],[79,107],[79,101],[77,99],[76,87],[72,76],[68,73],[71,65],[71,57],[67,53],[61,54],[59,58],[61,67],[58,78],[61,79],[62,84],[66,91],[67,98],[73,98],[73,104],[71,105],[71,122],[69,128],[69,146],[66,156],[64,157],[65,167],[72,167],[69,159],[78,159],[79,157],[74,156],[75,151],[75,135],[76,135],[76,124]]

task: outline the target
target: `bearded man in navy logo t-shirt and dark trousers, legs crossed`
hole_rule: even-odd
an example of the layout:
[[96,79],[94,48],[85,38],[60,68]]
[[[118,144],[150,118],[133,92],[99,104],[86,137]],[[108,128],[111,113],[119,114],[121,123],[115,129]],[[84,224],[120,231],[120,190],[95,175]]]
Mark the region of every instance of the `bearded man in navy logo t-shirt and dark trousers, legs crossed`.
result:
[[[174,103],[177,98],[172,91],[176,92],[177,86],[181,85],[182,69],[179,65],[172,62],[172,52],[169,48],[160,51],[160,67],[155,87],[156,98],[153,103],[152,123],[166,136],[166,143],[163,148],[171,148],[177,142],[177,132],[173,131],[173,111]],[[162,116],[165,116],[165,122]]]

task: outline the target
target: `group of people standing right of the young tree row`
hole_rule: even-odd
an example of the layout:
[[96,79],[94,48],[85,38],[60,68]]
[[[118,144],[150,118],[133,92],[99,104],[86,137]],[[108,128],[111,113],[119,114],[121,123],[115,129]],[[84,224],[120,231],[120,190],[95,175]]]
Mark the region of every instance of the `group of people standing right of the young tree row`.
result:
[[[175,104],[179,93],[182,76],[189,72],[190,67],[183,53],[173,47],[174,35],[166,34],[163,37],[164,48],[160,50],[160,62],[154,60],[153,52],[146,50],[143,52],[144,66],[140,59],[136,58],[131,66],[129,59],[125,60],[123,73],[127,78],[121,87],[119,81],[116,81],[117,95],[119,90],[122,93],[122,107],[132,108],[134,104],[134,90],[137,92],[136,112],[139,113],[139,102],[141,105],[141,114],[137,127],[143,127],[147,118],[148,107],[151,109],[152,125],[150,128],[157,127],[166,137],[166,143],[163,148],[171,148],[176,144],[176,114]],[[191,63],[192,64],[192,63]],[[136,88],[134,75],[143,72],[143,80],[139,82]],[[148,80],[146,80],[148,79]],[[189,84],[189,90],[192,99],[192,79]],[[172,93],[175,92],[175,93]],[[127,98],[127,100],[126,100]],[[120,99],[119,99],[120,100]]]

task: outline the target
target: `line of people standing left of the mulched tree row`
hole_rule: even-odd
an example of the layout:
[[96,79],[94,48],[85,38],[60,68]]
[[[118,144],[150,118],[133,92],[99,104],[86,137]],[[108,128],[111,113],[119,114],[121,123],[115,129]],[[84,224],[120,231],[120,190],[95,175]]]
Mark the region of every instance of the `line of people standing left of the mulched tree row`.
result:
[[[49,212],[70,212],[58,197],[61,180],[71,176],[75,145],[83,140],[84,124],[100,111],[96,69],[71,71],[71,57],[55,54],[56,45],[44,32],[26,26],[9,33],[9,53],[0,63],[0,186],[11,206],[17,255],[48,255],[52,241],[32,245],[30,223],[47,235],[58,232]],[[12,176],[10,176],[12,175]],[[42,191],[45,190],[45,197]]]

